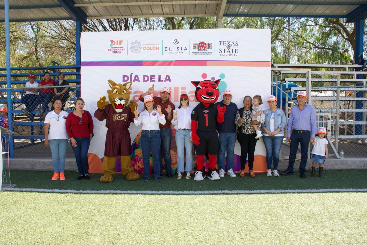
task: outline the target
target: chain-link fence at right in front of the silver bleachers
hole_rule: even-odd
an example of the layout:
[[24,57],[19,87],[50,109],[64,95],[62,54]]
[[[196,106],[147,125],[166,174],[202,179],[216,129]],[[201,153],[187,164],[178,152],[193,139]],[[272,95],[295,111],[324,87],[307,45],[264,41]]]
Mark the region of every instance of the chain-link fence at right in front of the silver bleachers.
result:
[[318,127],[327,125],[330,130],[329,154],[343,150],[345,158],[366,157],[366,82],[328,72],[313,72],[311,80]]

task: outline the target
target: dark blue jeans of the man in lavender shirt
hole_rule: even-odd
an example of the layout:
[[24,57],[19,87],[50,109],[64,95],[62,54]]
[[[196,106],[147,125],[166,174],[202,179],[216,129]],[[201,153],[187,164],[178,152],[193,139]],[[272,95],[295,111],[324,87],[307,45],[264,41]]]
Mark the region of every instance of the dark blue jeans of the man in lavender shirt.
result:
[[291,149],[289,151],[289,163],[287,168],[288,171],[293,171],[299,143],[301,143],[301,163],[299,164],[299,171],[306,171],[305,168],[307,163],[308,145],[310,143],[309,141],[310,132],[298,133],[296,130],[293,130],[291,134]]

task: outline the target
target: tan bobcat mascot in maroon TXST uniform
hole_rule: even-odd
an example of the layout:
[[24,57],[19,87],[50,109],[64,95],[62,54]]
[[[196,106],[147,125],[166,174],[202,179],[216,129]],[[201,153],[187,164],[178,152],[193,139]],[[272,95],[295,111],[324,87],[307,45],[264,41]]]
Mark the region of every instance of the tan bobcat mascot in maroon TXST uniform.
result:
[[112,174],[115,174],[115,162],[120,156],[121,170],[126,175],[126,180],[137,180],[139,174],[134,172],[131,166],[131,142],[128,128],[134,120],[134,110],[137,103],[134,100],[127,103],[130,99],[128,89],[132,82],[116,84],[108,80],[111,89],[107,90],[109,103],[105,102],[106,96],[101,96],[97,102],[98,109],[94,112],[94,117],[99,121],[106,119],[105,157],[103,158],[103,176],[101,182],[112,182]]

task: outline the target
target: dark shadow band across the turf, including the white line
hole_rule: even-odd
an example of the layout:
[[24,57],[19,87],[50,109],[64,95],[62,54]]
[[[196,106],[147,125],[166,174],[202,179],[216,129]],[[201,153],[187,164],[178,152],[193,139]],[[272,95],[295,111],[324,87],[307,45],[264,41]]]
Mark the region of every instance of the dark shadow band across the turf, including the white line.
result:
[[[267,177],[265,173],[257,173],[254,178],[246,175],[240,178],[231,178],[225,175],[218,181],[205,178],[203,181],[194,181],[193,178],[168,179],[162,176],[157,182],[151,175],[148,182],[139,180],[127,181],[122,174],[115,174],[111,183],[99,182],[102,174],[90,174],[90,180],[76,180],[77,172],[65,171],[65,181],[51,181],[52,173],[46,171],[12,170],[11,184],[16,184],[14,190],[39,192],[67,192],[67,193],[131,193],[131,194],[241,194],[241,193],[292,193],[292,192],[341,192],[345,189],[366,189],[365,170],[329,170],[324,171],[324,178],[309,176],[299,178],[292,176]],[[34,189],[34,190],[31,190]],[[302,191],[300,191],[302,190]],[[355,190],[356,191],[356,190]],[[359,190],[361,191],[361,190]]]

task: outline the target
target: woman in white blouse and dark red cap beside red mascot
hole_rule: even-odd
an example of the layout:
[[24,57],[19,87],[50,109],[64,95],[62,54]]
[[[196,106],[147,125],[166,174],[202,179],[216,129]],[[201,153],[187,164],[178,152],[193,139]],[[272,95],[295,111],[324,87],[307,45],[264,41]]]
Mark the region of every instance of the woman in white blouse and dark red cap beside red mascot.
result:
[[[191,140],[191,113],[193,108],[189,106],[189,96],[183,93],[180,98],[180,106],[173,113],[172,125],[176,131],[177,146],[177,178],[182,178],[182,172],[186,171],[186,179],[190,178],[192,171],[192,140]],[[184,169],[183,151],[186,148],[186,168]]]

